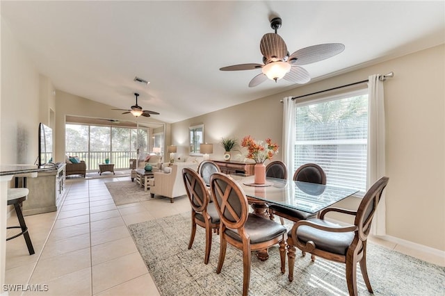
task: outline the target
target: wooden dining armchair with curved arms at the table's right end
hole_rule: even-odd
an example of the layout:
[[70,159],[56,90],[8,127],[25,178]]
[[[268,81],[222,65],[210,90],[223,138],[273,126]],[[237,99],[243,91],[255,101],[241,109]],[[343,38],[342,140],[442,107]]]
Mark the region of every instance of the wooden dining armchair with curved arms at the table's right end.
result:
[[[389,179],[382,176],[364,195],[357,211],[343,208],[325,208],[320,218],[300,220],[293,225],[288,233],[289,281],[293,281],[293,265],[295,263],[296,247],[303,252],[309,252],[330,261],[346,264],[346,282],[349,295],[357,295],[356,268],[360,263],[360,270],[366,288],[373,293],[366,270],[366,241],[371,230],[375,210],[380,202],[382,191]],[[354,224],[340,226],[325,220],[330,212],[355,216]]]

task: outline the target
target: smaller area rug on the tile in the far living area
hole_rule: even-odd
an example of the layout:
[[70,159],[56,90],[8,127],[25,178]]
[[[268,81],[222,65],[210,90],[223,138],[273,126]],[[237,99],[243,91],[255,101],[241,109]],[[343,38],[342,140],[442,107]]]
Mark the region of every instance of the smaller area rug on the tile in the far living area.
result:
[[111,197],[113,197],[116,206],[133,204],[134,202],[144,202],[152,199],[150,192],[145,192],[143,187],[136,184],[136,181],[107,182],[105,185]]

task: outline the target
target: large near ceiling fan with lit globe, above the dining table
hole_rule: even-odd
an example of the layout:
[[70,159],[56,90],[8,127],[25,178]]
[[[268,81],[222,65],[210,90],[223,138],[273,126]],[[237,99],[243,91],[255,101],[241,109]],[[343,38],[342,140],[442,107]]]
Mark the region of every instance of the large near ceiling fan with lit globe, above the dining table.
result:
[[254,76],[250,81],[249,87],[259,85],[271,79],[277,82],[284,79],[293,83],[304,84],[311,80],[309,72],[301,65],[308,65],[325,60],[340,54],[345,46],[341,43],[318,44],[311,47],[305,47],[289,55],[286,43],[278,35],[277,30],[281,28],[282,19],[275,17],[270,21],[270,27],[275,33],[266,33],[261,38],[259,49],[263,54],[263,65],[261,64],[240,64],[220,68],[221,71],[239,71],[250,69],[261,69],[262,73]]

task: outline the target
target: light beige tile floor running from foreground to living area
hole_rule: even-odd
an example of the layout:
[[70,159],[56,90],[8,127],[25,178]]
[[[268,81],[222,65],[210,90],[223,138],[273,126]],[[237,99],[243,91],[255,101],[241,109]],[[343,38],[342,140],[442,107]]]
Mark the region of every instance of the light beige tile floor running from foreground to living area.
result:
[[[129,176],[67,179],[65,199],[57,212],[26,216],[35,254],[29,256],[21,237],[9,240],[6,283],[47,285],[48,290],[9,295],[159,295],[127,225],[185,213],[190,205],[181,197],[174,204],[164,198],[115,206],[105,183],[124,180]],[[8,219],[8,225],[16,224],[17,217]],[[372,240],[444,265],[444,258]]]

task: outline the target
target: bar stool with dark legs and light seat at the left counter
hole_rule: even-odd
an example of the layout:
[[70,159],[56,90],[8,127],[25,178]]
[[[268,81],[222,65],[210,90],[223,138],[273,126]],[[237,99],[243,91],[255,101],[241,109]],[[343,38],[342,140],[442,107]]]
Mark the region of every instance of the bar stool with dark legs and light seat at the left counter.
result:
[[[15,175],[15,186],[18,186],[18,178],[22,177],[22,186],[26,186],[26,177],[35,177],[37,176],[37,173],[30,173],[30,174],[17,174]],[[26,246],[28,247],[29,254],[35,254],[33,243],[31,242],[31,238],[29,237],[28,233],[28,227],[26,226],[22,208],[20,207],[22,202],[26,200],[26,198],[29,195],[29,189],[28,188],[8,188],[8,206],[13,205],[15,208],[15,213],[17,213],[17,219],[19,220],[20,226],[10,226],[7,227],[7,229],[15,229],[19,228],[22,229],[22,232],[15,234],[14,236],[10,236],[9,238],[6,238],[6,241],[12,240],[13,238],[17,238],[19,236],[23,236],[26,242]]]

